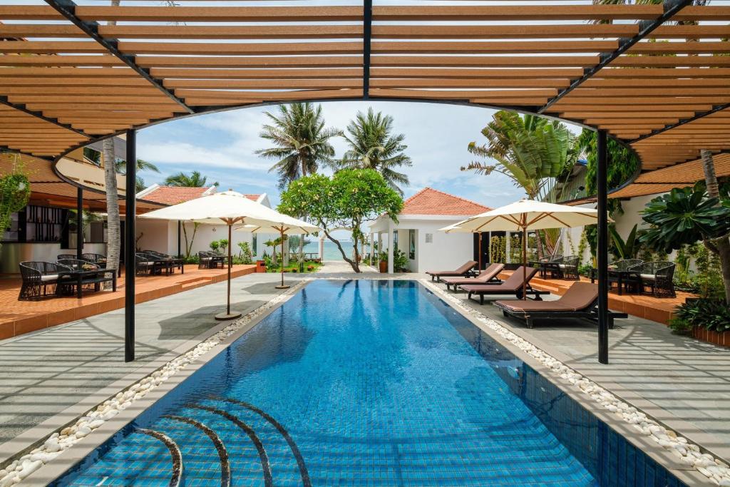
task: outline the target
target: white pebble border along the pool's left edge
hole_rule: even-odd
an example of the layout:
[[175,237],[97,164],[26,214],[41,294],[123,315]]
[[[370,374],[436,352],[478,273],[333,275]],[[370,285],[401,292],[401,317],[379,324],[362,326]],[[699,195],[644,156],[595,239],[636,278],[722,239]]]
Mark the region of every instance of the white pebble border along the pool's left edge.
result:
[[60,455],[64,450],[71,448],[82,440],[82,438],[87,437],[93,430],[118,415],[120,411],[130,407],[135,401],[142,399],[147,393],[179,372],[180,369],[196,361],[200,356],[209,352],[211,348],[226,340],[226,338],[230,337],[243,326],[246,326],[255,318],[261,316],[266,310],[270,310],[280,302],[288,299],[289,296],[299,291],[310,280],[312,279],[307,278],[299,281],[299,283],[296,283],[296,285],[293,285],[287,291],[274,296],[266,304],[261,305],[261,307],[234,321],[234,323],[226,326],[218,331],[218,333],[203,340],[195,348],[172,359],[139,382],[120,391],[112,399],[108,399],[93,407],[85,415],[78,418],[73,426],[66,426],[64,429],[51,434],[46,438],[43,445],[34,448],[30,453],[19,456],[8,464],[7,467],[0,469],[0,487],[9,487],[22,482],[28,475],[31,475],[37,469],[55,459],[56,456]]

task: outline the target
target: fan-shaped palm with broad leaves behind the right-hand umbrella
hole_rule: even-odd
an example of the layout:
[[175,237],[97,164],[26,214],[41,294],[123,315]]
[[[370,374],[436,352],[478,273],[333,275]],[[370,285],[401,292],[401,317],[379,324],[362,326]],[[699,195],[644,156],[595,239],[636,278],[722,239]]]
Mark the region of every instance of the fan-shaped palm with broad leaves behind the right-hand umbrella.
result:
[[[472,162],[462,171],[490,175],[499,172],[520,186],[529,199],[561,201],[561,177],[567,177],[579,155],[575,136],[555,120],[535,115],[520,117],[515,112],[499,111],[482,130],[488,145],[471,142],[469,153],[491,159]],[[494,161],[494,164],[492,163]],[[542,232],[540,232],[542,233]],[[557,229],[545,230],[545,242],[552,252],[558,243]],[[539,257],[544,255],[542,238],[536,239]]]

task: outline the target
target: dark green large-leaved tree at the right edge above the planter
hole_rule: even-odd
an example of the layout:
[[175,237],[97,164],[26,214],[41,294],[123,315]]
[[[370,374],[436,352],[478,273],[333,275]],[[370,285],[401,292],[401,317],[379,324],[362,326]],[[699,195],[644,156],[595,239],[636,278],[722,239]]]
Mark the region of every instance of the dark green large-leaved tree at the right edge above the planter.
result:
[[730,204],[724,206],[720,198],[709,196],[704,184],[698,183],[694,188],[675,188],[652,199],[643,213],[650,228],[640,239],[650,248],[668,253],[702,242],[720,257],[726,301],[730,303],[730,255],[726,252]]

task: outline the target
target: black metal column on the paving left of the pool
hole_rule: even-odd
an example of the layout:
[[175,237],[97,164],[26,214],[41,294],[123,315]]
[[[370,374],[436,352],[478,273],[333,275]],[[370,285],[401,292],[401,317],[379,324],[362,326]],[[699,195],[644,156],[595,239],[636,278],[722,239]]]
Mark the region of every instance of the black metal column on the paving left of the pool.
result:
[[137,131],[127,131],[126,206],[124,218],[124,361],[134,361],[134,218],[137,214]]

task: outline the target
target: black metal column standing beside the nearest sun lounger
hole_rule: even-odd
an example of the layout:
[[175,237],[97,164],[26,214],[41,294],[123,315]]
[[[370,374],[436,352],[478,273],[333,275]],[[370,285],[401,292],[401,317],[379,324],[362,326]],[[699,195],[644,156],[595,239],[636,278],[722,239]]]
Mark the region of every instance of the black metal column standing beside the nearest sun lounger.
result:
[[598,131],[598,361],[608,364],[608,147],[606,131]]

